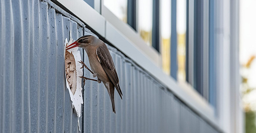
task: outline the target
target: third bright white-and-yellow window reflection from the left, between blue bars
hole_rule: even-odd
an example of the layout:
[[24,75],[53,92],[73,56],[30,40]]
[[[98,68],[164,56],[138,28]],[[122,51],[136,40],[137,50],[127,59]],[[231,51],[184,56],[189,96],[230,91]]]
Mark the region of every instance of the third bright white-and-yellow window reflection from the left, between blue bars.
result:
[[170,74],[170,44],[171,44],[171,0],[161,0],[161,53],[162,68]]

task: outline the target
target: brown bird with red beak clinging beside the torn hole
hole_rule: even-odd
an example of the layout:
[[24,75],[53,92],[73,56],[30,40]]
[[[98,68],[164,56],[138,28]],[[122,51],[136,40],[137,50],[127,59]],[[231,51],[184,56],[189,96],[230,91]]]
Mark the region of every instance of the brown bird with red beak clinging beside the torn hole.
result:
[[123,93],[119,85],[119,78],[115,69],[113,59],[111,57],[111,54],[109,53],[106,44],[95,36],[86,35],[78,38],[75,42],[67,46],[66,50],[75,47],[81,47],[82,49],[85,49],[89,59],[89,64],[91,66],[90,70],[84,62],[79,61],[80,63],[82,63],[81,68],[85,67],[93,74],[94,78],[97,77],[98,79],[95,80],[91,78],[86,78],[84,76],[80,76],[80,78],[84,78],[85,80],[97,81],[98,83],[103,82],[111,99],[113,113],[115,113],[115,88],[121,99],[123,99]]

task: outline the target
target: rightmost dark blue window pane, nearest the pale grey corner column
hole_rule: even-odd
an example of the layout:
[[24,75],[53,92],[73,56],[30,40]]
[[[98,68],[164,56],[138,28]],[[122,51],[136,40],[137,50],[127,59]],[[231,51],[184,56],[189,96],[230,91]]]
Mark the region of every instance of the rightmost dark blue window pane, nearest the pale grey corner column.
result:
[[193,16],[192,86],[206,100],[209,98],[209,1],[195,0]]

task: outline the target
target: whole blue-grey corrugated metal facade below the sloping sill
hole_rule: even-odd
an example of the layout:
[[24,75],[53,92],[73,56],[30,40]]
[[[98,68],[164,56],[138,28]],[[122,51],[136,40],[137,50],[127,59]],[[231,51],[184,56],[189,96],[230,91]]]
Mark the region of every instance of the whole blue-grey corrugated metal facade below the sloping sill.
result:
[[[65,87],[63,43],[69,31],[77,39],[88,29],[50,1],[1,0],[0,11],[0,132],[78,133]],[[103,83],[86,81],[82,131],[217,133],[143,69],[108,47],[123,100],[116,92],[113,114]],[[87,70],[85,75],[92,78]]]

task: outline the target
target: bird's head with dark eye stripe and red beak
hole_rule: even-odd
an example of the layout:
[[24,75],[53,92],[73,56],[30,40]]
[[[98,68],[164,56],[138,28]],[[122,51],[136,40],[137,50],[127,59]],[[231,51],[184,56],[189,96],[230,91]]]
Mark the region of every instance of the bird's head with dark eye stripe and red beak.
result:
[[73,42],[72,44],[70,44],[69,46],[66,47],[66,50],[75,48],[75,47],[83,47],[86,48],[87,46],[94,44],[93,42],[96,40],[97,38],[95,36],[91,36],[91,35],[86,35],[86,36],[82,36],[80,38],[78,38],[78,40],[76,40],[75,42]]

